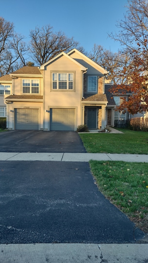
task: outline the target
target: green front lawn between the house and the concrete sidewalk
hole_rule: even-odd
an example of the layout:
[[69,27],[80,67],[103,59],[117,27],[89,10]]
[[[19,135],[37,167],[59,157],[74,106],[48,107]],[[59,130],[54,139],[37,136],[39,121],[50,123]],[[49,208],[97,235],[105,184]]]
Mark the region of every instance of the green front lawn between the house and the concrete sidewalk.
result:
[[88,153],[148,154],[148,133],[118,129],[122,133],[79,133]]

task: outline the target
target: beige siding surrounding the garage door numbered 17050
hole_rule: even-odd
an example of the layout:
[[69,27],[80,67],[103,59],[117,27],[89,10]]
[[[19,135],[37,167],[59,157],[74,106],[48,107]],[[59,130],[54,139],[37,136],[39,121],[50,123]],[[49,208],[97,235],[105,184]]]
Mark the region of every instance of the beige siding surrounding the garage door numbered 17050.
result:
[[14,112],[10,112],[10,110],[14,110],[16,108],[24,108],[29,107],[30,109],[39,109],[39,126],[40,129],[43,129],[43,103],[41,102],[13,102],[13,104],[7,104],[8,112],[9,112],[9,121],[8,128],[14,129]]

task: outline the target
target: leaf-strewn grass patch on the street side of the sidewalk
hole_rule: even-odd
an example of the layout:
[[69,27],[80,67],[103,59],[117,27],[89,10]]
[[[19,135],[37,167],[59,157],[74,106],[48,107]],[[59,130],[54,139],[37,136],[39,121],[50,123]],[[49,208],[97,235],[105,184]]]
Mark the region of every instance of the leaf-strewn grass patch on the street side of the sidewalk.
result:
[[148,233],[147,164],[91,160],[90,168],[101,193]]

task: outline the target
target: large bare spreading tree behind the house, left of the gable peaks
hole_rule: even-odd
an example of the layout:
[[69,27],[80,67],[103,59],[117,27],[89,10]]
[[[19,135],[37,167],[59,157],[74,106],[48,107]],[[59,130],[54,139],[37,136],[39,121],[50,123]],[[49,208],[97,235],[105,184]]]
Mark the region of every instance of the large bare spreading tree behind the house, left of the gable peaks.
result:
[[42,28],[36,27],[30,31],[30,56],[36,64],[42,65],[55,55],[62,51],[69,51],[76,46],[78,42],[74,38],[68,38],[63,32],[53,32],[50,25]]

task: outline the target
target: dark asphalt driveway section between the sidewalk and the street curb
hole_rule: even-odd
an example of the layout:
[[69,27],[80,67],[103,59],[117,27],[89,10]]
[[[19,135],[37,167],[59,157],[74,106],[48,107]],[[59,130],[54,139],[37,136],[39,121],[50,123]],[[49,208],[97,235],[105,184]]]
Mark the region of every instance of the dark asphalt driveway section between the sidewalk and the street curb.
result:
[[0,162],[0,243],[135,243],[144,233],[98,191],[88,163]]

